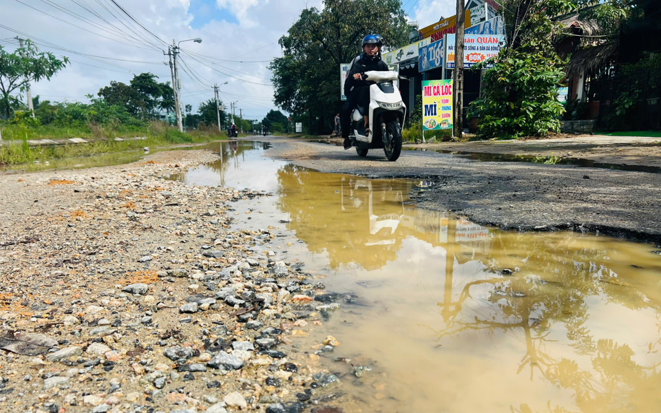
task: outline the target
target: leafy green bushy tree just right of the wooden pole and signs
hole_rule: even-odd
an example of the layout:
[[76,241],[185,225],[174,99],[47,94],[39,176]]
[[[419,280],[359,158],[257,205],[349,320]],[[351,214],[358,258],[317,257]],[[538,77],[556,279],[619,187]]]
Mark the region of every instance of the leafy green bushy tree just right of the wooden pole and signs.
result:
[[577,11],[578,3],[503,1],[507,44],[492,60],[494,67],[485,73],[482,95],[470,106],[470,114],[481,117],[481,136],[518,138],[559,131],[565,108],[556,97],[566,61],[555,49],[556,34],[563,29],[555,18]]

